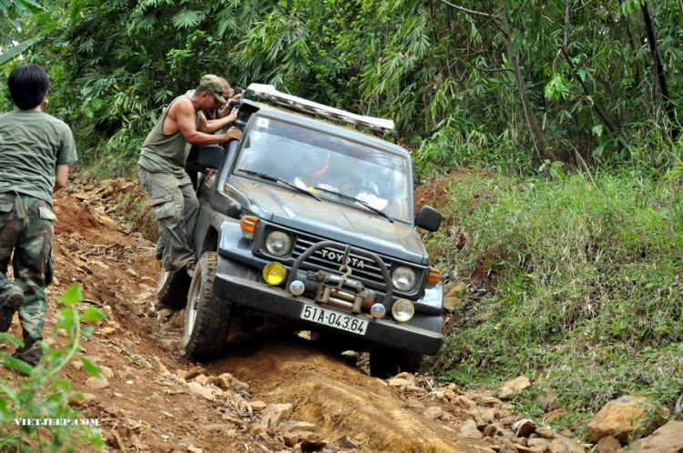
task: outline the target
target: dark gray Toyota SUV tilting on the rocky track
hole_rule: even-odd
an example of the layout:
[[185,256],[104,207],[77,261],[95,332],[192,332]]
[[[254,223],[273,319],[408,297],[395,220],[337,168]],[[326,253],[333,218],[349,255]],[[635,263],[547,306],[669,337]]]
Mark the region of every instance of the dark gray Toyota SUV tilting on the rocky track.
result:
[[411,157],[379,137],[392,121],[252,85],[237,124],[240,142],[199,150],[218,172],[199,181],[194,277],[159,280],[160,301],[187,304],[188,357],[276,322],[369,351],[373,376],[416,371],[443,343],[443,286],[415,227],[441,215],[413,215]]

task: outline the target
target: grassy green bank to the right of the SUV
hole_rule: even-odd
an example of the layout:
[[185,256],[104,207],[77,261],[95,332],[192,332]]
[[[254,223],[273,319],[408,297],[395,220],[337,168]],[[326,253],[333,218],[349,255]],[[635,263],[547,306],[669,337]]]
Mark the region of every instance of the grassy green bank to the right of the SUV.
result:
[[545,377],[575,413],[624,392],[673,406],[683,386],[680,176],[556,175],[450,187],[449,225],[428,247],[452,278],[485,292],[468,298],[434,370],[461,385]]

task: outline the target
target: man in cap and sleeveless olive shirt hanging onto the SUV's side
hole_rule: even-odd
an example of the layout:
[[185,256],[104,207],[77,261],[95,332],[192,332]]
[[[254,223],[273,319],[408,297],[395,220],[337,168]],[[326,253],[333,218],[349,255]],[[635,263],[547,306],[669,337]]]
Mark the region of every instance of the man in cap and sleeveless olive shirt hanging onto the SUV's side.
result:
[[219,77],[203,76],[191,96],[178,96],[170,103],[142,144],[138,176],[148,190],[149,205],[157,217],[159,235],[165,245],[161,262],[166,270],[192,271],[197,263],[191,244],[199,202],[185,172],[190,146],[242,138],[234,127],[225,134],[214,134],[234,121],[232,116],[207,120],[199,114],[217,109],[225,102]]

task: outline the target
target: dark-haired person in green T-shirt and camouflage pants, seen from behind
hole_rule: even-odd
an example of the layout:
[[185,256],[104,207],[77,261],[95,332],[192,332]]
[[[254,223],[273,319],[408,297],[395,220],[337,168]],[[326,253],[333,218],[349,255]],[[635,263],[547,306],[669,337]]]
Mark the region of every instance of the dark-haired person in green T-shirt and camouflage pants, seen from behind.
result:
[[[49,80],[42,67],[17,67],[7,86],[19,109],[0,115],[0,332],[18,310],[24,347],[14,356],[36,365],[52,279],[52,194],[66,186],[76,146],[71,129],[43,112]],[[6,275],[10,259],[15,280]]]

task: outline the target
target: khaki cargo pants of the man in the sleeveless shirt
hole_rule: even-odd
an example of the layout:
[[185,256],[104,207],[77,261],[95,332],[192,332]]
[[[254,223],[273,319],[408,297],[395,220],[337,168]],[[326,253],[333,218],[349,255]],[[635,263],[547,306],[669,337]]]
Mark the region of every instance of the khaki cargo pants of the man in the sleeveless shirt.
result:
[[169,173],[138,169],[147,188],[149,206],[157,217],[158,232],[164,243],[161,263],[166,270],[179,270],[195,261],[192,242],[199,215],[199,201],[189,176],[178,179]]

